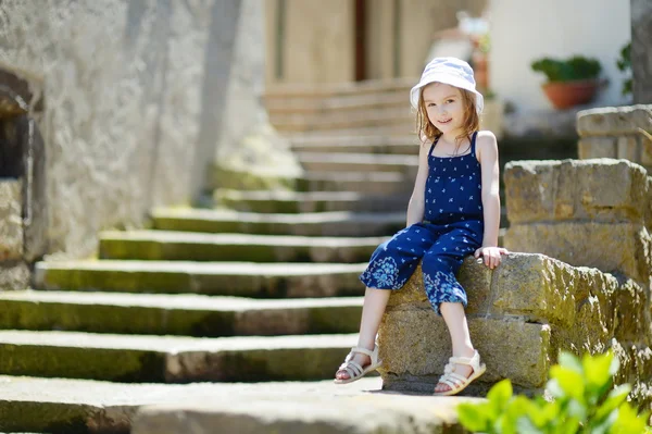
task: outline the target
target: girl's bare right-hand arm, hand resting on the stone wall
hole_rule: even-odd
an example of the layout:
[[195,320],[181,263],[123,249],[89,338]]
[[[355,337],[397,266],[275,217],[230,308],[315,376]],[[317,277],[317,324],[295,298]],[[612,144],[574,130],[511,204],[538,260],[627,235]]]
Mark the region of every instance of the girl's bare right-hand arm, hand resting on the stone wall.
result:
[[491,269],[498,266],[501,255],[507,250],[498,247],[498,231],[500,227],[500,195],[498,144],[491,132],[480,132],[477,137],[477,152],[482,173],[482,209],[485,218],[485,235],[482,247],[476,250],[475,257],[485,258],[485,264]]

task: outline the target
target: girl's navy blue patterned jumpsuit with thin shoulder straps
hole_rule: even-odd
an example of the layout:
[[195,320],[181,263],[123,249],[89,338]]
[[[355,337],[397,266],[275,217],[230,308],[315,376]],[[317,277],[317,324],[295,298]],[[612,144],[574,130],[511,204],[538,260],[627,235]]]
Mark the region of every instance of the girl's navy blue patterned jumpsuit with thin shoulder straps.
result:
[[466,293],[455,275],[464,258],[481,246],[484,231],[476,137],[477,132],[471,139],[471,152],[461,157],[432,157],[432,144],[424,221],[378,246],[360,275],[366,287],[400,289],[423,258],[424,286],[435,311],[441,314],[442,302],[466,307]]

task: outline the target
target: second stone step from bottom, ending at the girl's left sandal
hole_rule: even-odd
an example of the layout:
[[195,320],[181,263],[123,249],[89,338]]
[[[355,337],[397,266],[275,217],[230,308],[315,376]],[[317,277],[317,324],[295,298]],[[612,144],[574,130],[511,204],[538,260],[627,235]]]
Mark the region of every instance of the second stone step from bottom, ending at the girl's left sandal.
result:
[[0,374],[139,383],[331,379],[356,334],[179,337],[0,331]]

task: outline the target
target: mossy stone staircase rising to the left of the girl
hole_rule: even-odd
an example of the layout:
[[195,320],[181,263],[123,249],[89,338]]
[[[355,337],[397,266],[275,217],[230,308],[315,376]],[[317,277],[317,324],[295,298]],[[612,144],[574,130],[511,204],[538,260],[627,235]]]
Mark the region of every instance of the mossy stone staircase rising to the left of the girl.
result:
[[305,169],[296,190],[216,189],[213,209],[152,210],[147,230],[101,233],[97,259],[37,263],[34,289],[0,293],[0,431],[126,433],[140,406],[196,387],[170,383],[217,382],[215,397],[234,382],[325,381],[293,387],[339,394],[358,275],[404,226],[417,164],[406,89],[271,92]]

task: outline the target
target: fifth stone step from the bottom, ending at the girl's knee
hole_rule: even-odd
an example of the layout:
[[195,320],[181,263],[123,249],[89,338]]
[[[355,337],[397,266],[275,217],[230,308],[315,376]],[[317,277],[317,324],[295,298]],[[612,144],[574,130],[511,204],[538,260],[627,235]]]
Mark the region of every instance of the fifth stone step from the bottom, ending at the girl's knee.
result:
[[367,261],[384,237],[205,234],[176,231],[100,233],[101,259],[164,261]]

